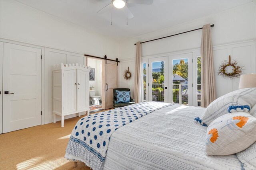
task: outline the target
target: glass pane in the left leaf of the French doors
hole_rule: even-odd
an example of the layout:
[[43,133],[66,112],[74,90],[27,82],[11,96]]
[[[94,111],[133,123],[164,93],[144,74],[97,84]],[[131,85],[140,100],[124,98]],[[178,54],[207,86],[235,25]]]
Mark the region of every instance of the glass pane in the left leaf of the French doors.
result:
[[152,62],[152,101],[164,102],[164,61]]

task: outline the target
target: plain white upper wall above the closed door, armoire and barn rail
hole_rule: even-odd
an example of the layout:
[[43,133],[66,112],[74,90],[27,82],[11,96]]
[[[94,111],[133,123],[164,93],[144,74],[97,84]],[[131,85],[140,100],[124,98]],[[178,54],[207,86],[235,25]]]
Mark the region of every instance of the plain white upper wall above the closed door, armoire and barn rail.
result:
[[12,0],[0,1],[0,37],[110,59],[118,41]]

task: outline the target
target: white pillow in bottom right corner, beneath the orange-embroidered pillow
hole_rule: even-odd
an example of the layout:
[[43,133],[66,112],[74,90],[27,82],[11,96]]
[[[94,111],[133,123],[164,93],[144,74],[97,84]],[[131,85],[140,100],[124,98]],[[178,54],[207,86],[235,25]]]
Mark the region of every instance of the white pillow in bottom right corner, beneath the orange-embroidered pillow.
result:
[[256,142],[242,152],[236,153],[236,156],[248,168],[256,168]]

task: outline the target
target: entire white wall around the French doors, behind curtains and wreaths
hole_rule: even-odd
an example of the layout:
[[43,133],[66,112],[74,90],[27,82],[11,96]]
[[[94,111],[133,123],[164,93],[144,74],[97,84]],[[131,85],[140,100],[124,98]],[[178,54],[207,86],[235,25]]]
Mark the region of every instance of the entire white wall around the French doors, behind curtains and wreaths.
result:
[[[256,5],[248,3],[244,6],[226,10],[211,16],[206,16],[198,20],[190,21],[160,31],[140,35],[120,42],[120,69],[119,86],[130,88],[133,94],[134,90],[134,65],[137,41],[147,41],[188,31],[202,27],[202,25],[211,23],[215,26],[211,28],[212,43],[214,46],[214,68],[216,72],[217,95],[222,96],[238,88],[239,78],[234,80],[225,79],[218,76],[218,66],[223,60],[232,59],[238,61],[244,66],[243,73],[255,73],[256,52]],[[193,52],[200,49],[202,31],[193,31],[166,39],[160,39],[142,44],[142,57],[166,56],[174,53]],[[254,40],[254,41],[253,41]],[[249,43],[243,43],[250,41]],[[235,43],[235,44],[233,44]],[[127,67],[133,73],[133,78],[124,80],[122,74]]]

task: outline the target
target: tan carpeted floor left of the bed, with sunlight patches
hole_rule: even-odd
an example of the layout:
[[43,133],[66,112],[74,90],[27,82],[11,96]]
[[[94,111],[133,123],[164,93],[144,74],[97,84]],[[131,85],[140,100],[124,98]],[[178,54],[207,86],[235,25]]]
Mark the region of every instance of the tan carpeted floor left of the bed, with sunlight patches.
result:
[[58,121],[1,134],[0,170],[90,170],[64,158],[70,133],[84,116],[66,119],[64,127]]

